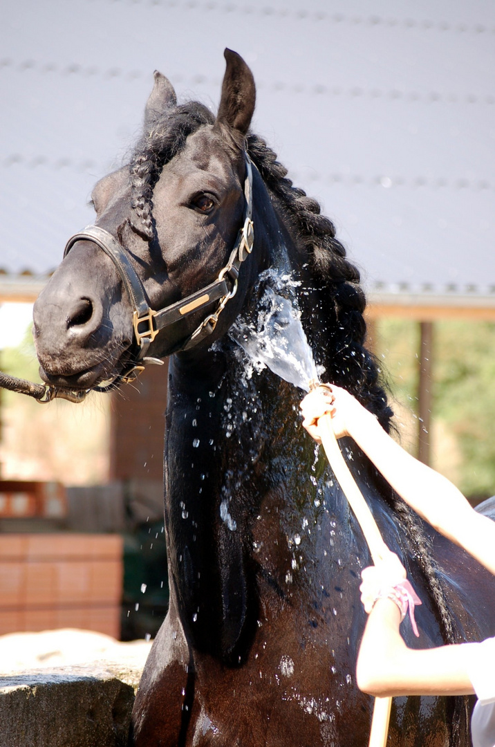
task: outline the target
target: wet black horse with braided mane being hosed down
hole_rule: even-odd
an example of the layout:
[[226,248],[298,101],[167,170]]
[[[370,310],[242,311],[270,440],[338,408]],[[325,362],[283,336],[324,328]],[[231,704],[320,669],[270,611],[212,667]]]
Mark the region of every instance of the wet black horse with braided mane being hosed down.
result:
[[[391,411],[364,347],[358,271],[317,202],[249,134],[252,74],[234,52],[225,58],[216,118],[197,102],[177,105],[155,73],[131,163],[96,185],[96,228],[69,241],[35,306],[40,371],[57,387],[90,389],[173,353],[170,606],[143,672],[131,743],[361,747],[372,704],[355,685],[367,545],[300,427],[302,392],[249,368],[229,328],[240,314],[256,323],[278,274],[325,378],[386,429]],[[350,439],[343,448],[423,600],[419,643],[405,622],[408,642],[493,632],[489,574],[414,517]],[[388,744],[469,744],[467,701],[397,698]]]

